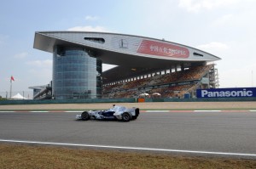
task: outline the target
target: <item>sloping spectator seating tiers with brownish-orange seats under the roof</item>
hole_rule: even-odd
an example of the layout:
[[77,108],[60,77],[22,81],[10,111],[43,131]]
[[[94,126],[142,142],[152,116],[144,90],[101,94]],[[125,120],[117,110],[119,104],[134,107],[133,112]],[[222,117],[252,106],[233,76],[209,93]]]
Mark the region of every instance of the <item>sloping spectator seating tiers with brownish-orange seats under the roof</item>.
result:
[[[103,85],[103,98],[139,98],[148,93],[151,98],[183,98],[185,93],[195,96],[197,88],[218,86],[214,65],[201,65],[164,75],[142,76]],[[155,95],[154,93],[159,93]]]

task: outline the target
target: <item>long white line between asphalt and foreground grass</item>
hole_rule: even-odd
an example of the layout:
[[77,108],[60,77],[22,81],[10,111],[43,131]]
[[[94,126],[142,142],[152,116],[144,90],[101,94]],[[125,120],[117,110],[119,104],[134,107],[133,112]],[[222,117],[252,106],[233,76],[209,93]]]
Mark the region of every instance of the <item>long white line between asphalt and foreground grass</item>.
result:
[[136,149],[136,150],[164,151],[164,152],[205,154],[205,155],[236,155],[236,156],[256,157],[256,154],[212,152],[212,151],[194,151],[194,150],[182,150],[182,149],[153,149],[153,148],[143,148],[143,147],[124,147],[124,146],[95,145],[95,144],[67,144],[67,143],[35,142],[35,141],[8,140],[8,139],[0,139],[0,142],[20,143],[20,144],[65,145],[65,146],[94,147],[94,148],[108,148],[108,149]]

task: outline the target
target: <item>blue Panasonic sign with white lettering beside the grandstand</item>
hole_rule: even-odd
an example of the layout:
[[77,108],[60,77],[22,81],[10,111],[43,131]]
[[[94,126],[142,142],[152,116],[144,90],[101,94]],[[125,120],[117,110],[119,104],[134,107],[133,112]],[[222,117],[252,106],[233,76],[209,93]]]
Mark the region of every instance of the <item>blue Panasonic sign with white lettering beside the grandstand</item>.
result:
[[256,87],[197,89],[197,98],[256,97]]

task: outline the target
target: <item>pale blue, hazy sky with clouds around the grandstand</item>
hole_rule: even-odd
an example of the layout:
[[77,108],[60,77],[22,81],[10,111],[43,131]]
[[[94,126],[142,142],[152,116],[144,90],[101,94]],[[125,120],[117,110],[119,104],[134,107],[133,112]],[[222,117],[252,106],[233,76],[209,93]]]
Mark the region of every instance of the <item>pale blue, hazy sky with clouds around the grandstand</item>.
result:
[[[52,79],[35,31],[104,31],[164,38],[221,58],[219,87],[256,86],[255,0],[9,0],[0,6],[0,93]],[[108,69],[103,65],[103,70]]]

